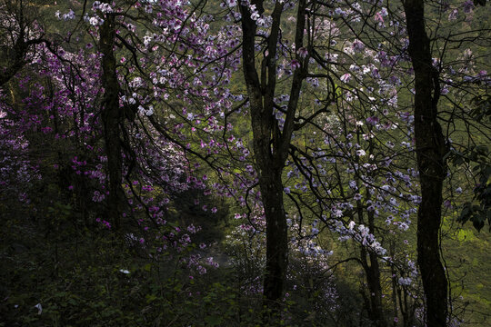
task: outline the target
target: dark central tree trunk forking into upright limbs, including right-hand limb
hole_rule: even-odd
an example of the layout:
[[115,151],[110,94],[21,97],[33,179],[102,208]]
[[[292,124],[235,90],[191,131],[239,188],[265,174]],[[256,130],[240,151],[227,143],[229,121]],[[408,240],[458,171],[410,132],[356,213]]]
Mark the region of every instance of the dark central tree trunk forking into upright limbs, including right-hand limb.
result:
[[[262,0],[253,0],[252,3],[256,5],[259,14],[263,14]],[[299,47],[303,45],[305,10],[306,0],[300,0],[296,23],[296,45]],[[266,214],[264,296],[266,306],[275,309],[277,300],[285,292],[288,262],[282,173],[294,131],[296,106],[306,71],[304,68],[299,68],[294,73],[286,123],[283,131],[280,131],[273,110],[276,92],[276,50],[283,5],[281,2],[276,2],[271,13],[272,25],[260,74],[256,69],[256,22],[251,19],[251,12],[246,5],[241,5],[241,11],[244,77],[250,102],[256,169]]]

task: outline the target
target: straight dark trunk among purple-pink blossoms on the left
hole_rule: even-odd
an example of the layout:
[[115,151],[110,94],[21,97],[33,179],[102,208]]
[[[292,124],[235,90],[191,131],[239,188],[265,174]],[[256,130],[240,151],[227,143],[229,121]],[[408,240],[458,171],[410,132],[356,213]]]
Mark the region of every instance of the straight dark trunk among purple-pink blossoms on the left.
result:
[[102,57],[102,83],[105,90],[102,109],[104,123],[105,154],[107,155],[107,171],[109,174],[109,196],[107,199],[108,218],[114,223],[115,229],[121,225],[122,201],[122,157],[119,128],[121,111],[119,109],[119,84],[116,75],[115,61],[115,16],[107,14],[104,24],[99,30],[100,51]]

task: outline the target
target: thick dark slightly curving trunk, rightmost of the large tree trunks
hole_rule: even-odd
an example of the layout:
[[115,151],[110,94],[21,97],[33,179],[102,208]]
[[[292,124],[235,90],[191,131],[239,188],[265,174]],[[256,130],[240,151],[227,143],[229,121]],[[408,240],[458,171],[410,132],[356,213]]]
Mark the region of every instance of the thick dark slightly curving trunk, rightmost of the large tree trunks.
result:
[[446,177],[446,143],[437,121],[440,87],[426,35],[424,2],[406,0],[404,7],[409,55],[416,79],[416,159],[422,196],[417,212],[417,263],[426,295],[426,325],[446,326],[448,286],[439,249],[442,189]]

